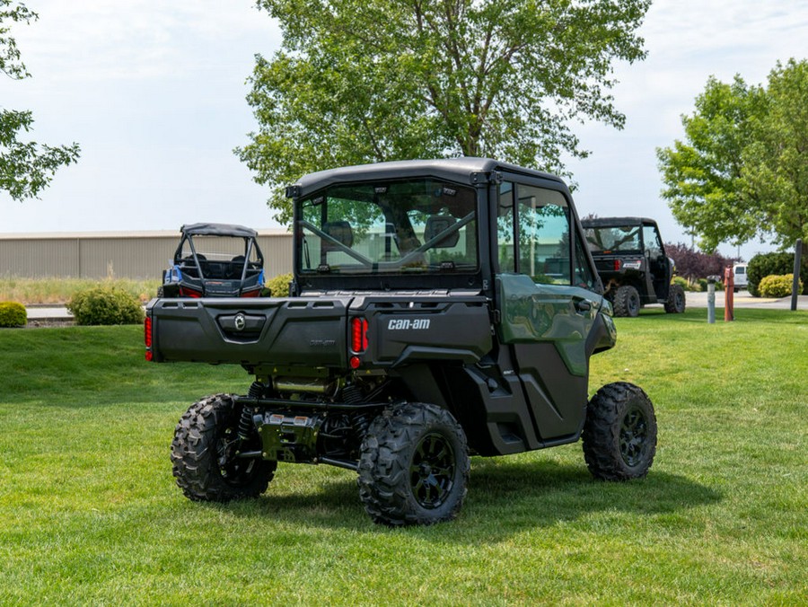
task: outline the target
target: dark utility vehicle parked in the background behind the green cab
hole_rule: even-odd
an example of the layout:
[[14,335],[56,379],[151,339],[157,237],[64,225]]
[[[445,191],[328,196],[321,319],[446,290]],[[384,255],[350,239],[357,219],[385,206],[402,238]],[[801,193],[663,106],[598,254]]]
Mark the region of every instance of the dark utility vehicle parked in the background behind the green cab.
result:
[[637,316],[646,304],[684,312],[684,289],[671,283],[673,260],[653,219],[597,217],[581,224],[615,316]]

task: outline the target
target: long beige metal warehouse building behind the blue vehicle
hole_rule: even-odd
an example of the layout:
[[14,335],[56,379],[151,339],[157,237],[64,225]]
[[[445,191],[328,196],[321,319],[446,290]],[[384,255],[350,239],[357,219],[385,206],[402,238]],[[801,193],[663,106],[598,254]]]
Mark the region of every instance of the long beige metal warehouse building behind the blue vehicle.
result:
[[[259,230],[267,278],[292,271],[292,234]],[[160,278],[180,231],[0,233],[0,277]]]

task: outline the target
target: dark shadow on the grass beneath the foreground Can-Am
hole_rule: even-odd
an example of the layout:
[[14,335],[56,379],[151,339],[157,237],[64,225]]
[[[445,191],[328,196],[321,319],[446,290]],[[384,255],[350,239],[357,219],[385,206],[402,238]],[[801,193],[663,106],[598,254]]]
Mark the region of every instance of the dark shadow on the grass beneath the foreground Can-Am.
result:
[[[294,468],[298,466],[281,467],[279,472],[294,474]],[[338,478],[312,485],[311,491],[273,495],[270,485],[267,494],[257,500],[202,507],[255,521],[291,523],[301,529],[391,532],[371,523],[358,497],[356,477],[342,472]],[[400,532],[458,543],[499,541],[514,533],[584,519],[599,512],[636,517],[676,515],[720,499],[715,490],[667,472],[652,471],[643,480],[610,483],[593,479],[584,465],[474,458],[469,492],[458,519]]]

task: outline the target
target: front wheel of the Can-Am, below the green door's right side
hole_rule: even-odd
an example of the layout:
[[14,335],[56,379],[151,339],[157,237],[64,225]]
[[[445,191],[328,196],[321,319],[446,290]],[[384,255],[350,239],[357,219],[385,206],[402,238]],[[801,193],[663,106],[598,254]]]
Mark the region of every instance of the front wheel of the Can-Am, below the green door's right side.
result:
[[646,476],[656,453],[654,405],[633,383],[609,383],[586,406],[584,460],[596,479]]

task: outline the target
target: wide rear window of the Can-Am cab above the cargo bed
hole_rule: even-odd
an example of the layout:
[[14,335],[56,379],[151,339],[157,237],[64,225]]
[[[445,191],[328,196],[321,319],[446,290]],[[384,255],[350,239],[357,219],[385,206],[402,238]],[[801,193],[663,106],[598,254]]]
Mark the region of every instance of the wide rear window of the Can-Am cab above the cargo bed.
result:
[[340,184],[301,200],[302,274],[474,272],[474,189],[431,180]]

